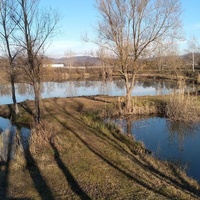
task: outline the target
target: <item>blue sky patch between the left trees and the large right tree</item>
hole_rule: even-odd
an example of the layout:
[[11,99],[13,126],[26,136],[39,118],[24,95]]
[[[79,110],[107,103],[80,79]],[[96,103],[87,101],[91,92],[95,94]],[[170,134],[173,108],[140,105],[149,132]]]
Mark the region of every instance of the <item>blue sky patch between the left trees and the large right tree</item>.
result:
[[94,48],[81,39],[86,33],[92,36],[97,12],[95,0],[40,0],[42,6],[51,6],[59,10],[61,15],[60,34],[53,38],[48,54],[62,57],[67,51],[76,55],[87,54]]

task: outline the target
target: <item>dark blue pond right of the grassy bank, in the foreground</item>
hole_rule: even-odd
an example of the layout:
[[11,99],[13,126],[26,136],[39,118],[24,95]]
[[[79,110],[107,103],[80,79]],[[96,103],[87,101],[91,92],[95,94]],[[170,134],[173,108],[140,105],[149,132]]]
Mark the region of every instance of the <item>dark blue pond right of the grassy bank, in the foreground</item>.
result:
[[186,173],[200,181],[200,124],[174,123],[165,118],[116,120],[124,132],[142,141],[153,155],[180,165]]

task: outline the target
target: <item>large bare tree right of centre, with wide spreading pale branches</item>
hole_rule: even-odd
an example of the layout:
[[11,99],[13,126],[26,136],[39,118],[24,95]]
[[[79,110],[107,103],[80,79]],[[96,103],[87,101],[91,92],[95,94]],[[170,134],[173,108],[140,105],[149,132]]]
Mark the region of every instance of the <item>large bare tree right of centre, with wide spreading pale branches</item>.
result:
[[[158,40],[175,37],[181,26],[179,0],[96,0],[100,14],[95,41],[111,52],[126,86],[126,111],[131,112],[135,77],[142,58]],[[177,34],[178,35],[178,34]]]

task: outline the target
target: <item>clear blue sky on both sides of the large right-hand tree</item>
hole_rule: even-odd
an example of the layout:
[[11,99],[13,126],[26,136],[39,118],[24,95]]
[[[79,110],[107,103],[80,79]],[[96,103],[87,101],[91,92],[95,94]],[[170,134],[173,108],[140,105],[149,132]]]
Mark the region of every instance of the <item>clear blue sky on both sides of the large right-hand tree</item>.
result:
[[[200,0],[180,0],[182,3],[183,41],[180,51],[184,53],[187,41],[195,36],[200,43]],[[55,58],[74,55],[89,55],[95,46],[84,43],[87,34],[94,37],[94,27],[98,21],[95,0],[40,0],[42,7],[52,7],[59,11],[61,20],[59,34],[53,38],[47,55]]]

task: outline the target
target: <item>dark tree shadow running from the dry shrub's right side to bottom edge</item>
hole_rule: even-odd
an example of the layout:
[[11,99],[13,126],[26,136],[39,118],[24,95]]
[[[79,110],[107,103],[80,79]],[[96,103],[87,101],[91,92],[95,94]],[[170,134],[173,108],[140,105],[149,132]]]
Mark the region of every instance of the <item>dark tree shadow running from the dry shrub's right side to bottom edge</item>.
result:
[[69,171],[69,169],[65,166],[65,164],[63,163],[62,159],[60,158],[60,154],[56,148],[56,146],[54,145],[54,143],[52,141],[50,141],[51,147],[54,151],[54,159],[58,165],[58,167],[61,169],[61,171],[63,172],[66,181],[69,183],[71,190],[76,193],[80,199],[83,200],[87,200],[87,199],[91,199],[80,187],[80,185],[77,183],[77,181],[75,180],[75,178],[73,177],[73,175],[71,174],[71,172]]

